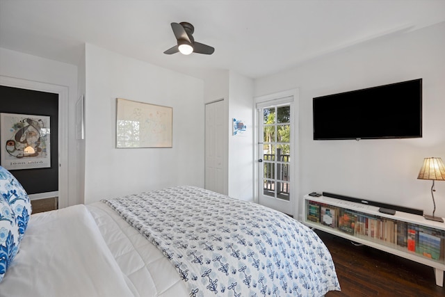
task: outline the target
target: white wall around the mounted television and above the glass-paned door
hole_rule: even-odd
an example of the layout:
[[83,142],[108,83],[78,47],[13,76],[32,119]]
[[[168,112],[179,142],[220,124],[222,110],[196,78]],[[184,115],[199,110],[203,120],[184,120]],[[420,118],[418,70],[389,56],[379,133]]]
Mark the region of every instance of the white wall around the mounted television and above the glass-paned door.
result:
[[[423,158],[445,160],[445,23],[395,33],[257,79],[255,97],[300,90],[300,198],[327,191],[432,212],[432,182],[416,179]],[[423,138],[314,141],[312,98],[423,78]],[[436,182],[445,217],[445,182]],[[300,209],[302,209],[300,207]]]

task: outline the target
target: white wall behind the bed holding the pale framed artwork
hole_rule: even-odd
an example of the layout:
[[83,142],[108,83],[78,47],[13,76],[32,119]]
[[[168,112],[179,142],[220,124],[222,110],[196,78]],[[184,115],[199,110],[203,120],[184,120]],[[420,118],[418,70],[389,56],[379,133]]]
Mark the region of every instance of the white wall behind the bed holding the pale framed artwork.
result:
[[[116,98],[171,106],[172,148],[115,148]],[[86,45],[85,202],[165,186],[204,187],[204,83]]]

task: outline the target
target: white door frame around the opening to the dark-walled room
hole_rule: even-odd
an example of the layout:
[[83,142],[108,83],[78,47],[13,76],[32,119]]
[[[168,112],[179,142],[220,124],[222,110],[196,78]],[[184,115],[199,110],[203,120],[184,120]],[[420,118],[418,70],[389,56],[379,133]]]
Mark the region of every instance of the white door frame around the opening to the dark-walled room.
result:
[[[0,85],[58,94],[58,207],[68,206],[68,87],[0,75]],[[54,197],[54,192],[48,197]],[[38,194],[36,194],[38,195]],[[42,193],[44,195],[44,193]],[[40,196],[39,195],[39,198]],[[36,196],[37,197],[37,196]],[[32,197],[31,197],[32,199]]]

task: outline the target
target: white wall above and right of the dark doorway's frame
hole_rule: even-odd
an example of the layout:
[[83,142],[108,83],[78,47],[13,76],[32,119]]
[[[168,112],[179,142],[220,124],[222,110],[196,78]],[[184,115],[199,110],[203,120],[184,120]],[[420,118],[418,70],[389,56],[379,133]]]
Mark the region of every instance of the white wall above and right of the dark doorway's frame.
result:
[[79,204],[81,202],[76,188],[76,150],[74,119],[75,104],[77,97],[77,67],[66,63],[40,58],[18,51],[0,48],[0,75],[21,79],[31,83],[46,83],[49,85],[62,86],[68,89],[67,106],[68,109],[68,134],[65,135],[68,146],[67,166],[68,185],[67,197],[60,197],[61,207]]

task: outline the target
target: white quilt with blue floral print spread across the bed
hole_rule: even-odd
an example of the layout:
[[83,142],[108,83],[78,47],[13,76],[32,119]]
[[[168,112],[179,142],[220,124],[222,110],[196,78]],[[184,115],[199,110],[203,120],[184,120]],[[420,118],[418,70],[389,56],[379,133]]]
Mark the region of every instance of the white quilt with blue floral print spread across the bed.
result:
[[340,289],[321,239],[273,209],[193,186],[102,201],[170,259],[190,296],[322,296]]

